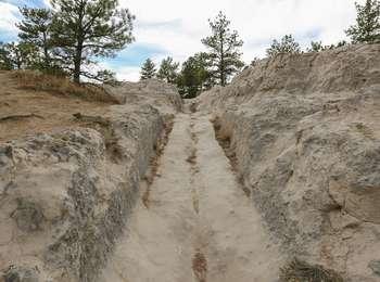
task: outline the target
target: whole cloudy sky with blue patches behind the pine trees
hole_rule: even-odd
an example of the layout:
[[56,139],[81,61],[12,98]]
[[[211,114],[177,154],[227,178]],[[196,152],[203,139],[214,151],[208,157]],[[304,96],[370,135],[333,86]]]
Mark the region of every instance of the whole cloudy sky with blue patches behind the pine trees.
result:
[[[365,0],[356,0],[363,3]],[[0,0],[0,41],[17,40],[17,7],[45,7],[49,0]],[[243,61],[264,57],[274,39],[292,34],[303,48],[346,39],[344,29],[355,22],[355,0],[119,0],[136,15],[136,41],[115,59],[101,59],[122,80],[139,79],[141,64],[156,64],[170,55],[183,62],[205,51],[201,39],[210,35],[208,18],[223,11],[244,41]]]

